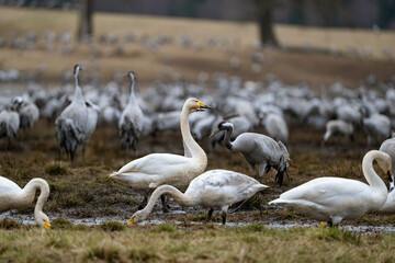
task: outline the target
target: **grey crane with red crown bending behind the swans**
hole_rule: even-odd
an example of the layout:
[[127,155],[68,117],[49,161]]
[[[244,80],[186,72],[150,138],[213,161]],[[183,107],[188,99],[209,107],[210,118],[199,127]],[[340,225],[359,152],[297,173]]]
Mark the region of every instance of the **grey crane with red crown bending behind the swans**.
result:
[[260,180],[262,180],[264,172],[269,172],[271,168],[274,168],[278,171],[275,180],[281,186],[290,161],[290,155],[284,144],[280,140],[275,141],[269,136],[256,133],[240,134],[232,142],[230,135],[233,129],[234,125],[232,123],[223,121],[211,136],[225,130],[225,146],[229,150],[238,151],[242,155],[250,164],[253,176],[257,178],[257,165],[259,167]]

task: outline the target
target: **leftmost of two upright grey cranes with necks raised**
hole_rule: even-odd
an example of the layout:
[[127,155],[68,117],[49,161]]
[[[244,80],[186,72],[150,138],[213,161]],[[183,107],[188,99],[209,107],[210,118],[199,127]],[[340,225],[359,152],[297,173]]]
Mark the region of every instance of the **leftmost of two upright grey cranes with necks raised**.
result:
[[55,121],[56,138],[60,149],[74,161],[77,146],[86,139],[84,130],[88,123],[88,107],[83,100],[82,91],[78,82],[78,73],[81,66],[75,66],[76,92],[70,105],[68,105]]

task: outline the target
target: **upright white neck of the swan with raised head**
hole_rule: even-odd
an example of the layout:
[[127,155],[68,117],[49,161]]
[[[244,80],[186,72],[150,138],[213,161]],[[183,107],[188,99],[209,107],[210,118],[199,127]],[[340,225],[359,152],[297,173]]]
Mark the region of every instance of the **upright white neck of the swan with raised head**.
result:
[[180,116],[180,127],[182,139],[192,155],[192,158],[201,159],[202,161],[207,162],[207,156],[204,150],[198,145],[198,142],[193,139],[189,126],[189,115],[190,110],[187,104],[182,106],[181,116]]

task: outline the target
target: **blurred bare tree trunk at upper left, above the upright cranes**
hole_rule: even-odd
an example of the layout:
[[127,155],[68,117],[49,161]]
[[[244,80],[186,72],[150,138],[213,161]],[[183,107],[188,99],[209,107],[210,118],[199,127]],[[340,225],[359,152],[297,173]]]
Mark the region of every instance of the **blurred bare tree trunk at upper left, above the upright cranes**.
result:
[[92,37],[93,0],[81,0],[78,24],[78,41],[90,41]]

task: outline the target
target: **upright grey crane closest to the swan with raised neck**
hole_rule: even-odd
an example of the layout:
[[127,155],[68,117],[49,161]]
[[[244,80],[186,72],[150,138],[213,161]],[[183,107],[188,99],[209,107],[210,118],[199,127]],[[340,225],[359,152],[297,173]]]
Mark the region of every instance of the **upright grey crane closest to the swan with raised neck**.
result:
[[129,101],[121,115],[119,128],[122,149],[127,148],[136,151],[137,141],[143,130],[144,114],[134,93],[134,85],[136,80],[135,73],[129,71],[128,76],[131,77]]

